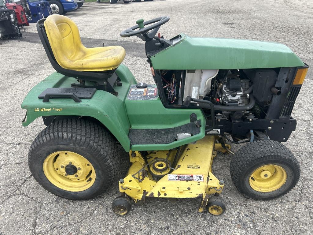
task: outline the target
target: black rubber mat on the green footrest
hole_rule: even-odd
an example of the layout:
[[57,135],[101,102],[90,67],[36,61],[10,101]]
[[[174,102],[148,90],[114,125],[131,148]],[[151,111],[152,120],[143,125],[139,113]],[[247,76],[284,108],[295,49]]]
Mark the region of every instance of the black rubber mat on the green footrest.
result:
[[[201,120],[198,120],[201,123]],[[166,129],[131,129],[128,137],[131,145],[134,144],[170,144],[174,142],[179,133],[196,135],[200,128],[195,128],[195,123],[187,123],[175,128]]]

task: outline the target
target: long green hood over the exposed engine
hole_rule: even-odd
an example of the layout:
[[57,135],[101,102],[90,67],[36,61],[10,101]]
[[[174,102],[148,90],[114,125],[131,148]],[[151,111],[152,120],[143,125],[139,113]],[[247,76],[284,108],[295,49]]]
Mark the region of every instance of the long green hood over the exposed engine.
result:
[[181,36],[181,41],[151,57],[154,69],[256,69],[304,65],[295,53],[280,43]]

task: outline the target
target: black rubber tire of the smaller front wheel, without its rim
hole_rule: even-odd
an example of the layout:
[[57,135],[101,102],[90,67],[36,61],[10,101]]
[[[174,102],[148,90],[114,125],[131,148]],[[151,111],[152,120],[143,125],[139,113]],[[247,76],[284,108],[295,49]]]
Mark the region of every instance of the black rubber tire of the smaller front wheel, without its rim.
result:
[[[290,186],[277,195],[275,195],[275,191],[266,193],[267,197],[261,196],[262,193],[259,192],[258,194],[253,194],[251,191],[247,191],[243,183],[244,174],[251,169],[252,165],[258,165],[261,162],[270,164],[270,161],[283,162],[290,167],[293,172]],[[255,167],[255,169],[258,167]],[[285,145],[273,140],[259,140],[245,144],[236,152],[230,162],[230,175],[237,190],[246,198],[270,200],[283,196],[294,188],[300,178],[300,165],[294,154]]]

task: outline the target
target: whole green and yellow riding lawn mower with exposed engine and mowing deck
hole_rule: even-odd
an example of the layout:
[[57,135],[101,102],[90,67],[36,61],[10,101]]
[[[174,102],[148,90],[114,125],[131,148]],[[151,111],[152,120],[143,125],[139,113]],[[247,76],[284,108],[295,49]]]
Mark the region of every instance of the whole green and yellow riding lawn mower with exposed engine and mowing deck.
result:
[[[308,65],[279,43],[156,36],[169,19],[140,19],[121,32],[145,41],[155,84],[136,81],[121,46],[86,48],[71,19],[38,21],[56,72],[22,103],[23,126],[38,117],[47,126],[29,150],[32,175],[57,196],[90,199],[113,184],[122,148],[131,166],[118,182],[116,214],[146,198],[200,198],[199,212],[220,215],[224,181],[212,164],[221,152],[233,155],[231,178],[245,197],[285,195],[300,166],[281,142],[295,131]],[[229,143],[242,146],[233,153]]]

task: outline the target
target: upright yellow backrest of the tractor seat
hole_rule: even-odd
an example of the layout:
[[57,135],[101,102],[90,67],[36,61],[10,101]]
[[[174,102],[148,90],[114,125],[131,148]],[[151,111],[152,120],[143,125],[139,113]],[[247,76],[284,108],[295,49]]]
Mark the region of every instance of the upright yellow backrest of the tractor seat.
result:
[[78,28],[73,20],[63,15],[48,16],[44,27],[54,58],[63,67],[83,46]]

